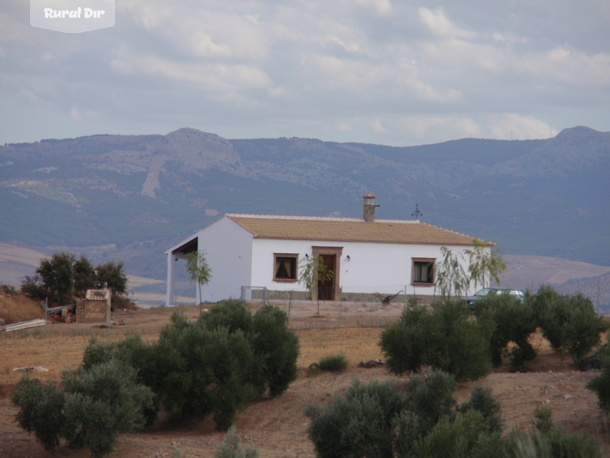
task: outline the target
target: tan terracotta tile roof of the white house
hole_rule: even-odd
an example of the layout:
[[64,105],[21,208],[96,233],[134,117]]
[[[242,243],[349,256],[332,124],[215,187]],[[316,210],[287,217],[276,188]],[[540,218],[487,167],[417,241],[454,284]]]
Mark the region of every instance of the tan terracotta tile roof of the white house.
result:
[[[228,214],[255,238],[337,242],[472,245],[477,237],[417,220],[375,220]],[[479,239],[487,245],[493,242]]]

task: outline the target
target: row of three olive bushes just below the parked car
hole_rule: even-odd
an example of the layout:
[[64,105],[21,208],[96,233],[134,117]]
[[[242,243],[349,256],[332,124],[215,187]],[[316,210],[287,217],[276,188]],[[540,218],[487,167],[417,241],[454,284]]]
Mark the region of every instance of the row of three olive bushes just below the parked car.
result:
[[556,352],[570,354],[576,364],[599,344],[605,329],[590,299],[562,295],[549,286],[528,294],[525,301],[488,296],[477,302],[474,315],[457,300],[432,308],[408,307],[381,337],[389,369],[403,374],[432,366],[458,380],[476,380],[505,356],[521,369],[536,357],[529,339],[537,329]]

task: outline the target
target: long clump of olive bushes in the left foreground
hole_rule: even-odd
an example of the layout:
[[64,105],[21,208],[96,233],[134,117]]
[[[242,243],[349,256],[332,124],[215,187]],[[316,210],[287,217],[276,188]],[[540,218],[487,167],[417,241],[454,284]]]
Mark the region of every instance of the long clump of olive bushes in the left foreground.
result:
[[227,430],[245,402],[288,388],[298,351],[284,312],[264,306],[252,315],[227,301],[195,322],[174,314],[152,344],[139,336],[94,340],[78,371],[64,377],[63,391],[25,379],[14,401],[21,426],[45,447],[64,437],[103,454],[117,432],[152,423],[159,409],[180,418],[212,415],[216,428]]

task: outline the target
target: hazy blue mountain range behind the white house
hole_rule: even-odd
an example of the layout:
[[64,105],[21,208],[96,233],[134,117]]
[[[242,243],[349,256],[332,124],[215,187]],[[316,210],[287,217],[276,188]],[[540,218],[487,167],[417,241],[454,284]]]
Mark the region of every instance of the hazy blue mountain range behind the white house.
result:
[[195,129],[0,147],[0,241],[69,247],[164,278],[163,252],[227,212],[423,221],[506,254],[610,265],[610,133],[395,148]]

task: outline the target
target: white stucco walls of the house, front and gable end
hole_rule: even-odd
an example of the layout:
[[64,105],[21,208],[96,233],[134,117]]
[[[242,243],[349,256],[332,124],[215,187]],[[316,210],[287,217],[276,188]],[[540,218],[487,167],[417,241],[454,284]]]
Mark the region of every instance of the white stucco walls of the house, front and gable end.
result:
[[[202,287],[203,301],[239,298],[242,286],[266,287],[272,291],[306,291],[298,282],[273,281],[274,254],[296,253],[302,259],[305,254],[312,255],[313,246],[342,248],[337,267],[343,293],[438,293],[434,286],[414,286],[411,283],[413,258],[432,258],[437,265],[441,262],[441,247],[437,245],[255,239],[227,217],[201,230],[197,237],[199,249],[205,251],[212,268],[209,284]],[[472,247],[449,248],[459,257],[463,250]],[[463,267],[467,270],[466,260]],[[471,287],[467,294],[474,294],[479,288]]]

